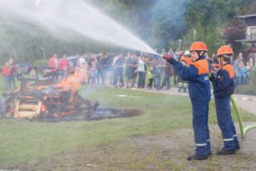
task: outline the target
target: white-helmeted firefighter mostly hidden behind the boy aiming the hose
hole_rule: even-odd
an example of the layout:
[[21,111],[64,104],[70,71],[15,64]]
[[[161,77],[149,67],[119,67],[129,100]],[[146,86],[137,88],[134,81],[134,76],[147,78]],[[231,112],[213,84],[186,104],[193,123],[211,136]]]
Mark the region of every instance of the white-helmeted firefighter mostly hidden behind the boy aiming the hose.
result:
[[[189,51],[185,51],[184,56],[181,58],[181,62],[183,65],[190,65],[192,63],[192,60],[190,59],[191,54]],[[186,80],[184,80],[181,76],[178,77],[178,92],[181,92],[183,89],[183,92],[186,93],[186,89],[188,88],[189,84]]]

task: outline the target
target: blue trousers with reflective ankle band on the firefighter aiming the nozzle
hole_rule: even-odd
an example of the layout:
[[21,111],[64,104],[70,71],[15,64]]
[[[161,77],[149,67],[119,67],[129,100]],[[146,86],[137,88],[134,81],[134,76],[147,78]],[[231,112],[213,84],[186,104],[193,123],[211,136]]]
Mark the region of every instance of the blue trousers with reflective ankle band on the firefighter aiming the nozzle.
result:
[[210,131],[208,127],[209,102],[192,101],[195,153],[207,156],[210,149]]

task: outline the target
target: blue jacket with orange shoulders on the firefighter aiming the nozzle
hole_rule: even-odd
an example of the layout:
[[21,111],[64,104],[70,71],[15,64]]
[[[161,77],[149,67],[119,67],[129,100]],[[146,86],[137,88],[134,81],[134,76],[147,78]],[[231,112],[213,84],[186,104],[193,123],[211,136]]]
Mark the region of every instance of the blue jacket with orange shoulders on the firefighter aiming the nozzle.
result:
[[189,94],[191,101],[210,101],[210,82],[208,62],[205,57],[198,58],[189,66],[183,66],[181,62],[174,62],[174,70],[183,79],[189,82]]

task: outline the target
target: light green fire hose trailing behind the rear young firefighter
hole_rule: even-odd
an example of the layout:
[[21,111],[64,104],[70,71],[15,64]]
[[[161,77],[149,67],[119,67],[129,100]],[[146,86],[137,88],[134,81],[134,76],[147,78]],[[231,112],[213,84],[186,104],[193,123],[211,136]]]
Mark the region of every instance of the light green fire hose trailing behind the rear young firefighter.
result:
[[256,128],[256,124],[254,124],[254,125],[248,125],[248,126],[246,126],[245,128],[243,128],[243,125],[242,125],[242,115],[241,115],[241,113],[240,113],[239,110],[238,110],[238,105],[235,103],[233,96],[230,97],[230,101],[231,101],[232,105],[234,106],[235,113],[236,113],[237,116],[238,116],[238,124],[239,124],[239,128],[240,128],[240,133],[241,133],[241,137],[243,138],[243,137],[246,136],[246,133],[247,133],[250,129]]

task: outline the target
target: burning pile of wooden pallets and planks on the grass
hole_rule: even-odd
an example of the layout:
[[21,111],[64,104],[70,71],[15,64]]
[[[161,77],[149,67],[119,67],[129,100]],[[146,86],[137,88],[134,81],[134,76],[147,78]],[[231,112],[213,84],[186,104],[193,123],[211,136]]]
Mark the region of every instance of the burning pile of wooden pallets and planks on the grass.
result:
[[90,115],[98,105],[98,101],[92,104],[76,89],[55,84],[53,80],[22,78],[19,89],[3,94],[0,114],[14,118]]

